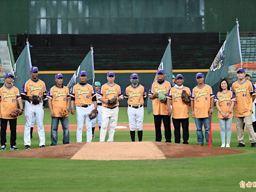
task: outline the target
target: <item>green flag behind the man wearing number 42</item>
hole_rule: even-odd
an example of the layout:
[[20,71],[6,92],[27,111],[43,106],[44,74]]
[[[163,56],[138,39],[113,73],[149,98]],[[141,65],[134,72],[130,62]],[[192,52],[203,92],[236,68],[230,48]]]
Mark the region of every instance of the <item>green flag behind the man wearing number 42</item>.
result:
[[93,47],[90,47],[90,51],[86,54],[83,58],[81,64],[77,67],[76,71],[74,72],[73,76],[67,83],[67,87],[70,89],[72,86],[79,82],[79,72],[81,70],[86,70],[87,72],[87,82],[91,81],[94,83],[94,62],[93,62]]

